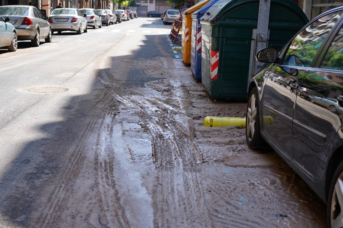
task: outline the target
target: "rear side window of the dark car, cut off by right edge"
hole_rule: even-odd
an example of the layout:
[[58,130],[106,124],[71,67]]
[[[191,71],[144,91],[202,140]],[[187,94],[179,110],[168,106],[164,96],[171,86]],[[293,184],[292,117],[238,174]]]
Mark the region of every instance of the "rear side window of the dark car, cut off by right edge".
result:
[[333,39],[320,68],[343,70],[343,28]]

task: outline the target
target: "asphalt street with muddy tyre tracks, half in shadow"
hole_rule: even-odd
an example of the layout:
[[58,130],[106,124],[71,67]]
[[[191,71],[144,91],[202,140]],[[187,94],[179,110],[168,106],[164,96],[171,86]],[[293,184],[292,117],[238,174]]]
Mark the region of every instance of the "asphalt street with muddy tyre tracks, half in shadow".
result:
[[138,17],[0,50],[0,227],[326,226],[279,155],[203,126],[247,104],[210,99],[170,28]]

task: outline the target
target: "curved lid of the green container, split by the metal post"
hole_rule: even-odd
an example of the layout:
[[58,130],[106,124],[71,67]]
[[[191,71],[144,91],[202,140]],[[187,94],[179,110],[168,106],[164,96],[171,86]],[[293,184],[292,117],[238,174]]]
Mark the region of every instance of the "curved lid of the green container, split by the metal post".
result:
[[[200,18],[202,21],[216,21],[220,16],[226,13],[228,10],[251,1],[259,1],[259,0],[219,0],[215,2],[207,12]],[[304,21],[308,21],[304,12],[300,9],[300,7],[294,3],[292,0],[271,0],[271,2],[276,2],[283,7],[291,8],[294,10],[298,15],[300,15]]]

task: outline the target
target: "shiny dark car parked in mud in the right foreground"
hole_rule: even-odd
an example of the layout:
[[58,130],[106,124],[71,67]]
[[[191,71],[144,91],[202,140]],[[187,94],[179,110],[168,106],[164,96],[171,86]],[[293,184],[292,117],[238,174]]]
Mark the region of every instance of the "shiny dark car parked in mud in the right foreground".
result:
[[[343,7],[322,13],[280,52],[257,52],[269,64],[250,81],[246,116],[248,146],[272,147],[327,202],[328,227],[343,225],[342,14]],[[270,73],[289,78],[287,90],[267,80]],[[319,96],[299,98],[304,88]]]

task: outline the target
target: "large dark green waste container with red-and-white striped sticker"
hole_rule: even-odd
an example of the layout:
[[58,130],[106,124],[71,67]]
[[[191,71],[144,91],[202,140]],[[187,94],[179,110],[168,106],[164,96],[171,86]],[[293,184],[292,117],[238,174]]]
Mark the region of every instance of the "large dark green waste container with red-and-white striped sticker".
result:
[[213,99],[246,101],[250,78],[263,65],[255,53],[280,51],[307,23],[291,0],[217,1],[200,18],[203,86]]

